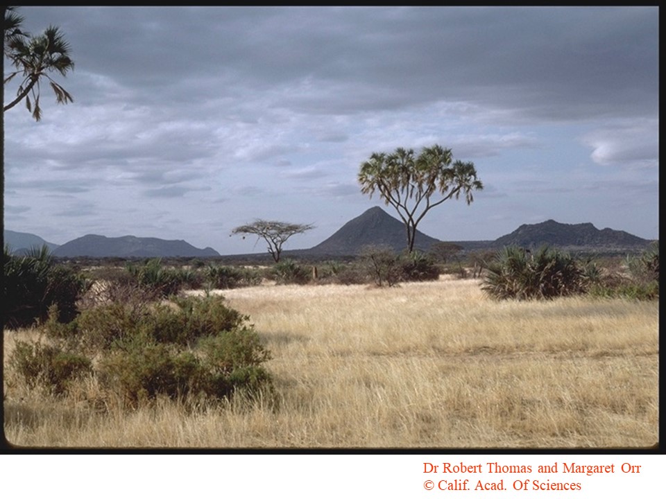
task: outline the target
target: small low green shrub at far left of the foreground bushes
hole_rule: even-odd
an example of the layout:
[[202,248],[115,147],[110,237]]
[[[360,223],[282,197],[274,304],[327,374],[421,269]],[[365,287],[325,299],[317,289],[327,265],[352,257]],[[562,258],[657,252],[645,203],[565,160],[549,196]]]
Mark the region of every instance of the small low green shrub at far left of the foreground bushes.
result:
[[53,394],[67,392],[69,383],[92,372],[89,358],[40,342],[17,341],[9,365],[28,387],[44,387]]

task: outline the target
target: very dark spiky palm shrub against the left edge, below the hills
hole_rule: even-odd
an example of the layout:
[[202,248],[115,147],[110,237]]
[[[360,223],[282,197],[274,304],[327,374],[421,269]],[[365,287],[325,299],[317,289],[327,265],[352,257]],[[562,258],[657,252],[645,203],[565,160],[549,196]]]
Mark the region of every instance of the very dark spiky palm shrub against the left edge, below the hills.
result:
[[91,283],[73,270],[58,265],[49,249],[32,249],[24,256],[3,252],[2,314],[6,326],[30,326],[42,322],[53,304],[60,320],[69,322],[78,313],[78,299]]

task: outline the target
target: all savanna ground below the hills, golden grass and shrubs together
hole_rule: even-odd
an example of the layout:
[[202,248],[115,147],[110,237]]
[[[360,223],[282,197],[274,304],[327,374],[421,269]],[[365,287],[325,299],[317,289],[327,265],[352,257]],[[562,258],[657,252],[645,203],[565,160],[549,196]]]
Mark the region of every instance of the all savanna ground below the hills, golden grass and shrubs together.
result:
[[658,254],[368,247],[239,265],[6,249],[5,435],[49,447],[653,446]]

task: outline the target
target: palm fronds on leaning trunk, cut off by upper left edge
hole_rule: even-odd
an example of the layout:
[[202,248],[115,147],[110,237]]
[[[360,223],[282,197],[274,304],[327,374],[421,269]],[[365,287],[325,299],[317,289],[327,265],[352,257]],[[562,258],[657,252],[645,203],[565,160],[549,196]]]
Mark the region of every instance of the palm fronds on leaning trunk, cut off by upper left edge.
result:
[[[12,14],[12,12],[8,13]],[[7,26],[7,15],[5,19],[5,26]],[[19,24],[20,20],[19,17]],[[6,105],[3,111],[11,109],[25,98],[28,111],[32,112],[36,121],[40,121],[42,119],[42,109],[40,108],[42,77],[49,80],[58,104],[74,102],[74,98],[69,92],[53,81],[48,74],[51,71],[58,71],[62,76],[67,76],[67,72],[74,69],[74,61],[69,57],[69,43],[57,26],[49,26],[42,35],[32,37],[22,34],[10,36],[8,39],[6,33],[4,49],[6,57],[16,68],[16,71],[6,76],[4,83],[6,84],[19,73],[22,73],[23,81],[19,85],[16,98]]]

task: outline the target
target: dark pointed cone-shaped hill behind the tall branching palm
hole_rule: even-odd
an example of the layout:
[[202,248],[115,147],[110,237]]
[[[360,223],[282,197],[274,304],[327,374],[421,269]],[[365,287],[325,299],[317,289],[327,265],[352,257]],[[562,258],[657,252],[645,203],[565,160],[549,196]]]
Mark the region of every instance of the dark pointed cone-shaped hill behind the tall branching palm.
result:
[[[416,231],[414,247],[423,251],[439,240]],[[382,245],[401,252],[407,247],[404,223],[388,215],[379,207],[370,208],[357,218],[345,223],[335,234],[322,243],[300,253],[309,255],[353,256],[364,246]]]

